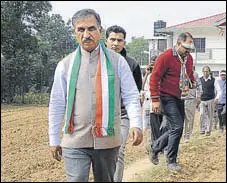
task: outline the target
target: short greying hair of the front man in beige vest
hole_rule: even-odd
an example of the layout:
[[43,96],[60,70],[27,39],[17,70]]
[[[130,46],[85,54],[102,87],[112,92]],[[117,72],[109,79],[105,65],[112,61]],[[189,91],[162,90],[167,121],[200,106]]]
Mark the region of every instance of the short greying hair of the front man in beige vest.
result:
[[81,18],[89,17],[91,15],[95,16],[95,18],[97,20],[98,27],[100,28],[101,27],[100,16],[93,9],[82,9],[82,10],[77,11],[72,17],[72,25],[73,25],[73,27],[75,26],[75,23],[76,23],[77,20],[79,20]]

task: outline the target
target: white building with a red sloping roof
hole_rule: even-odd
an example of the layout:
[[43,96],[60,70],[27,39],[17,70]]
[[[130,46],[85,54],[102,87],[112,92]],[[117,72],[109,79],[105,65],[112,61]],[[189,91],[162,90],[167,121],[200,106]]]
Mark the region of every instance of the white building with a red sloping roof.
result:
[[165,33],[166,36],[148,39],[150,56],[159,55],[165,49],[172,48],[180,33],[190,32],[196,47],[192,56],[199,76],[202,75],[204,65],[210,66],[214,76],[218,76],[220,70],[226,70],[226,12],[158,31]]

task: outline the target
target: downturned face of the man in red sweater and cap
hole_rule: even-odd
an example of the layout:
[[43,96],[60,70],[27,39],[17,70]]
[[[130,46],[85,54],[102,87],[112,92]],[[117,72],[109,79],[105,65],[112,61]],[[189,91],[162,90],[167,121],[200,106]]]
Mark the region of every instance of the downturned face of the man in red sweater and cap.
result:
[[187,37],[186,41],[181,41],[178,48],[179,54],[183,57],[188,56],[192,52],[190,48],[192,45],[194,45],[194,43],[193,39],[190,37]]

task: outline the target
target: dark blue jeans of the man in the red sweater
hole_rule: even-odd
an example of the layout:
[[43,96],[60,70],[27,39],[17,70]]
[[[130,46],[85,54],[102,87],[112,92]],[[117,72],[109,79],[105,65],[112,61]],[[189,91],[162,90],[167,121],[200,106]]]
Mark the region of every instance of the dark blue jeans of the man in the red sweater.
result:
[[169,130],[163,133],[152,145],[155,153],[167,145],[167,163],[176,163],[180,138],[184,127],[184,100],[173,96],[162,96],[162,110],[168,121]]

